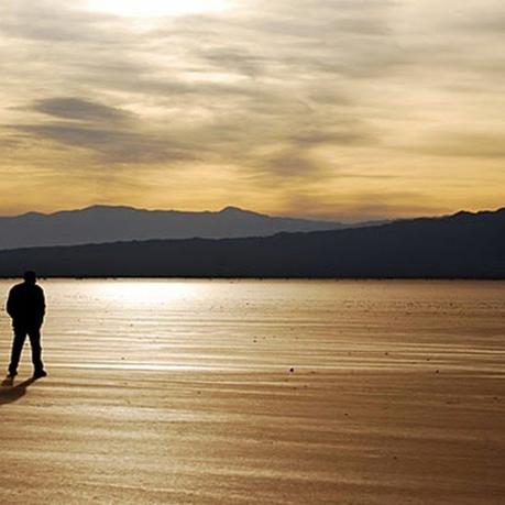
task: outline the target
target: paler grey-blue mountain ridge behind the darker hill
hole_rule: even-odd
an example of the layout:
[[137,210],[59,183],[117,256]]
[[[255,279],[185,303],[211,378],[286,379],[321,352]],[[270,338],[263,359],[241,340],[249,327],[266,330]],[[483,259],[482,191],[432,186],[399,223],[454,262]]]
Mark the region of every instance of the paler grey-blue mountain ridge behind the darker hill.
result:
[[30,212],[0,217],[0,250],[149,239],[267,237],[282,231],[345,227],[349,224],[277,218],[235,207],[227,207],[219,212],[180,212],[94,206],[52,215]]

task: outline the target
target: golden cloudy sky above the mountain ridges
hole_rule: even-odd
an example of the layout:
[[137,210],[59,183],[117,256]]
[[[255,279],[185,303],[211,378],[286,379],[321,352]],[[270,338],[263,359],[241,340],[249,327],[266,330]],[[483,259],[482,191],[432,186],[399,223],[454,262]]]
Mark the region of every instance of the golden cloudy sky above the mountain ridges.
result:
[[505,206],[503,0],[1,0],[0,215]]

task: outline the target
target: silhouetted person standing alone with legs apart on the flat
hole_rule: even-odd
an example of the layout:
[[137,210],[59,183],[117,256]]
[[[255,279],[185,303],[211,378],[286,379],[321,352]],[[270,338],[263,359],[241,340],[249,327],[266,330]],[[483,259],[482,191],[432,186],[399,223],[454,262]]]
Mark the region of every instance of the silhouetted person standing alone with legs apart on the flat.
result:
[[25,272],[24,283],[12,287],[7,300],[7,311],[12,318],[14,329],[9,377],[14,378],[18,375],[18,364],[26,334],[32,348],[33,377],[45,377],[47,374],[42,363],[41,348],[41,327],[44,322],[45,299],[44,290],[36,284],[35,272]]

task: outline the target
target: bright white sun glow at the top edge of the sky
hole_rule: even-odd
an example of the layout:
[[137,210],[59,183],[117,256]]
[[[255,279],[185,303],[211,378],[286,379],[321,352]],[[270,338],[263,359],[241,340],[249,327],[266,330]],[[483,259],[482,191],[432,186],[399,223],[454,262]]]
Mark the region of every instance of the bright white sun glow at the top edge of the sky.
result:
[[231,0],[87,0],[85,9],[125,18],[160,18],[205,12],[219,12]]

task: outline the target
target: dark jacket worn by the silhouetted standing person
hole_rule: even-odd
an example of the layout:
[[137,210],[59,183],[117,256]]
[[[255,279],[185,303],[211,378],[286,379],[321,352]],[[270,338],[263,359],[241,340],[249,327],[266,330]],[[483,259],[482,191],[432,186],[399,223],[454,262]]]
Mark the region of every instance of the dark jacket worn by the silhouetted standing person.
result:
[[17,284],[9,293],[7,311],[14,326],[42,326],[45,315],[44,290],[36,284]]

